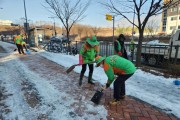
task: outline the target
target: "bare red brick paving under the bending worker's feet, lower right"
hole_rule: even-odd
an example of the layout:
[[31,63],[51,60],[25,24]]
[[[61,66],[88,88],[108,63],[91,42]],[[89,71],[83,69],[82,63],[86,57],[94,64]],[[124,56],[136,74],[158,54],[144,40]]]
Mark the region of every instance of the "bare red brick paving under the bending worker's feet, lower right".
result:
[[110,105],[109,101],[113,99],[112,90],[108,90],[103,99],[108,110],[108,120],[178,120],[175,116],[130,96],[126,96],[118,105]]

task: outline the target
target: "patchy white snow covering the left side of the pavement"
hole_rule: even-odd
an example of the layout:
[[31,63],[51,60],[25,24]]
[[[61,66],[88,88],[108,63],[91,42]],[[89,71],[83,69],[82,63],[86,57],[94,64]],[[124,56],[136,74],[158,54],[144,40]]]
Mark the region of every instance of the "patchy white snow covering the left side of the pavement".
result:
[[[8,52],[12,52],[14,49],[14,45],[8,43],[0,42],[0,45]],[[6,119],[34,120],[43,114],[50,119],[61,118],[62,120],[106,119],[107,111],[104,106],[94,107],[92,102],[87,102],[85,106],[87,112],[98,114],[83,113],[83,116],[77,116],[73,107],[71,107],[76,100],[67,93],[59,91],[46,78],[30,71],[26,65],[20,62],[17,56],[20,55],[12,53],[7,55],[7,57],[0,58],[0,85],[5,87],[6,94],[12,95],[3,100],[8,109],[11,110],[9,114],[4,114]],[[22,82],[29,82],[37,89],[41,102],[35,108],[29,107],[25,101],[24,93],[22,92]],[[65,100],[65,98],[68,100]]]

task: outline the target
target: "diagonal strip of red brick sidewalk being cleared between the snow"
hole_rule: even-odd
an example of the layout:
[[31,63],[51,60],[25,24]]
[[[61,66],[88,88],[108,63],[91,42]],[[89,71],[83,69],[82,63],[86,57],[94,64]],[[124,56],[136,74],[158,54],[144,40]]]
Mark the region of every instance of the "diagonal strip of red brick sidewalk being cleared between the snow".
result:
[[[43,69],[48,69],[46,70],[46,72],[48,71],[48,74],[44,73],[44,77],[48,78],[49,80],[54,79],[54,77],[56,76],[58,78],[58,74],[63,74],[64,79],[66,80],[68,78],[70,79],[70,81],[66,80],[67,86],[60,86],[61,89],[63,87],[64,91],[72,94],[72,96],[75,94],[81,94],[85,96],[84,100],[90,100],[92,95],[95,93],[95,90],[97,90],[99,86],[98,83],[96,84],[96,86],[87,84],[87,78],[84,78],[83,85],[80,88],[78,86],[79,74],[72,71],[70,74],[67,75],[65,73],[64,67],[52,61],[44,59],[43,57],[31,56],[21,58],[21,60],[25,63],[29,63],[29,68],[32,69],[34,72],[41,73],[43,72]],[[32,60],[38,64],[34,66],[32,62],[28,62]],[[73,89],[68,90],[68,87],[72,87]],[[109,101],[112,99],[113,90],[109,89],[106,90],[106,92],[104,93],[100,103],[101,105],[104,105],[105,108],[108,110],[108,120],[178,120],[178,118],[176,118],[175,116],[168,115],[162,112],[160,109],[130,96],[127,96],[124,100],[122,100],[119,105],[114,106],[108,104]],[[77,112],[77,114],[81,113]]]

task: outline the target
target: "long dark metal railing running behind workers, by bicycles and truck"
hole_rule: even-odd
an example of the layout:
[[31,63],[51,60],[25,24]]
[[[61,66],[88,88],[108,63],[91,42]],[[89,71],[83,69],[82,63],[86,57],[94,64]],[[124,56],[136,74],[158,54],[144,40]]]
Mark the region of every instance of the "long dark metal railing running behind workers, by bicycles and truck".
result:
[[[13,40],[4,39],[6,42]],[[114,54],[113,42],[100,41],[100,55],[110,56]],[[41,43],[43,48],[50,52],[66,53],[76,55],[79,53],[84,42],[71,41],[62,43],[58,41],[46,41]],[[131,47],[130,47],[131,46]],[[137,44],[125,43],[128,59],[136,62]],[[133,48],[133,49],[132,49]],[[163,63],[179,64],[180,63],[180,45],[149,45],[143,44],[141,51],[141,61],[143,64],[161,66]]]

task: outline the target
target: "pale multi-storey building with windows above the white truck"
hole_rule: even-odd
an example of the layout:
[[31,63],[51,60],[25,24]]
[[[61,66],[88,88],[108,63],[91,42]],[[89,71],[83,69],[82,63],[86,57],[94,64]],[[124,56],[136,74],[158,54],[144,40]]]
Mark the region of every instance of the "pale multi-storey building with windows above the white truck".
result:
[[[168,1],[164,0],[164,4]],[[171,34],[174,29],[180,29],[180,1],[162,13],[161,32]]]

